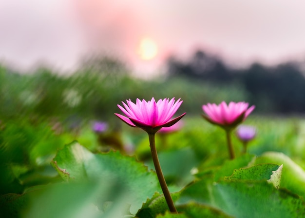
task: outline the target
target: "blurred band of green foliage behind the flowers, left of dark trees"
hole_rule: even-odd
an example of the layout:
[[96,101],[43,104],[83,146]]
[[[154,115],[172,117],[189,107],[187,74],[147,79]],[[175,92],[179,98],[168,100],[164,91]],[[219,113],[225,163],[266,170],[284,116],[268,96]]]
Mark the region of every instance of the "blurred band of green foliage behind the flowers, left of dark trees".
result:
[[200,113],[207,102],[246,99],[238,84],[219,86],[182,78],[140,80],[127,73],[81,69],[59,76],[48,69],[18,74],[0,68],[0,119],[18,117],[113,119],[116,104],[126,99],[181,98],[181,111]]

